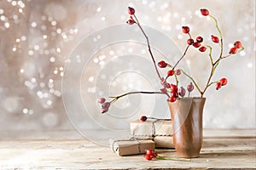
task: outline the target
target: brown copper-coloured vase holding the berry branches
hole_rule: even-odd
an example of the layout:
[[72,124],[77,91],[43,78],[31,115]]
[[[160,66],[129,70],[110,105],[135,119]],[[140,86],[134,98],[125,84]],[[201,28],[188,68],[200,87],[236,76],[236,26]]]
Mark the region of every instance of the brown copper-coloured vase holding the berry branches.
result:
[[173,144],[178,157],[199,157],[202,114],[206,98],[183,98],[168,102],[172,117]]

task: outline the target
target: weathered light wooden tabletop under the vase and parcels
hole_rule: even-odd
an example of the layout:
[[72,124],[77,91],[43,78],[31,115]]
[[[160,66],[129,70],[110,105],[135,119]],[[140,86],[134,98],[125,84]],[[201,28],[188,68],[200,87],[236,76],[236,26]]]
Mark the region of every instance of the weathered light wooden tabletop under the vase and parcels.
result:
[[[256,169],[255,129],[204,130],[201,156],[191,161],[116,156],[73,131],[0,134],[0,169]],[[177,156],[175,150],[157,152]]]

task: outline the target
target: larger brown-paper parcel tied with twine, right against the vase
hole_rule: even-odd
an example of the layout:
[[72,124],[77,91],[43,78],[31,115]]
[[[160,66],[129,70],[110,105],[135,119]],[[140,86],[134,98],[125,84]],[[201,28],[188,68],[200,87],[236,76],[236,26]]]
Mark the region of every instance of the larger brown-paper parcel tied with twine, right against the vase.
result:
[[138,138],[153,137],[157,148],[173,148],[171,120],[133,121],[131,122],[131,135]]

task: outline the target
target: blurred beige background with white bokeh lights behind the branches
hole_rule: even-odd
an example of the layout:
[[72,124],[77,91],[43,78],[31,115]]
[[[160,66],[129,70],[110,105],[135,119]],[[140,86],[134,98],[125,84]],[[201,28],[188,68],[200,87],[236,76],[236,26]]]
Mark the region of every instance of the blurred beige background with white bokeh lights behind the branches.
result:
[[[172,44],[161,43],[160,40],[158,44],[169,48],[172,51],[170,54],[173,55],[180,55],[186,48],[188,37],[182,33],[182,26],[189,26],[193,37],[201,35],[209,44],[210,36],[218,35],[213,21],[201,17],[199,9],[208,8],[218,19],[223,31],[224,54],[228,54],[236,40],[240,40],[246,49],[225,59],[219,65],[213,78],[226,77],[229,83],[219,91],[214,87],[207,91],[204,127],[256,127],[253,0],[1,0],[1,132],[67,130],[78,124],[79,129],[127,129],[129,122],[141,115],[168,117],[166,103],[164,106],[159,105],[166,102],[162,97],[131,96],[116,102],[113,109],[103,116],[100,113],[100,105],[96,103],[96,99],[101,96],[107,97],[143,88],[160,89],[160,86],[155,88],[152,78],[155,76],[154,67],[134,71],[141,68],[136,63],[144,65],[148,62],[146,64],[152,66],[145,44],[118,42],[98,48],[95,54],[90,55],[84,55],[90,48],[79,46],[84,44],[84,38],[85,42],[88,42],[86,37],[91,37],[90,35],[95,35],[90,39],[93,43],[102,45],[102,35],[97,34],[97,31],[116,25],[120,28],[126,27],[125,21],[129,19],[128,6],[136,8],[137,17],[143,26],[157,30],[172,40]],[[156,38],[154,35],[150,37],[149,33],[150,31],[149,39]],[[137,34],[141,36],[141,32],[137,31]],[[116,35],[114,31],[110,31],[108,36]],[[143,38],[142,42],[145,43]],[[211,45],[216,48],[213,54],[217,56],[218,45]],[[154,51],[154,54],[158,60],[165,59],[160,51]],[[127,59],[127,56],[131,59],[129,65],[114,60],[119,57]],[[172,56],[167,58],[171,62],[174,61]],[[76,71],[75,67],[67,69],[68,64],[73,62],[71,59],[80,63],[83,70]],[[183,62],[203,87],[209,74],[207,54],[201,54],[198,49],[191,48]],[[148,74],[149,76],[143,72],[148,68],[152,68],[152,74]],[[68,86],[62,89],[61,81],[66,73],[69,78],[77,77],[76,75],[80,78],[79,81],[67,81]],[[166,71],[162,73],[166,74]],[[81,94],[79,98],[72,96],[76,90]],[[63,95],[65,98],[62,98]],[[196,96],[196,93],[193,95]],[[76,100],[83,101],[84,112],[78,109],[81,105],[76,105]],[[158,107],[160,110],[155,109]],[[113,117],[117,117],[117,120]]]

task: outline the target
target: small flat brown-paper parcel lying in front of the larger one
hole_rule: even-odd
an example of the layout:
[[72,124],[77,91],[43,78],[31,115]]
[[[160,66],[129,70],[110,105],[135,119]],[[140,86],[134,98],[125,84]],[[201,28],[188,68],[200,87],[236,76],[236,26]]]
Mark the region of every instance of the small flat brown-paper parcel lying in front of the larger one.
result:
[[118,156],[131,156],[144,154],[146,150],[154,150],[153,138],[129,138],[129,139],[109,139],[110,149]]

